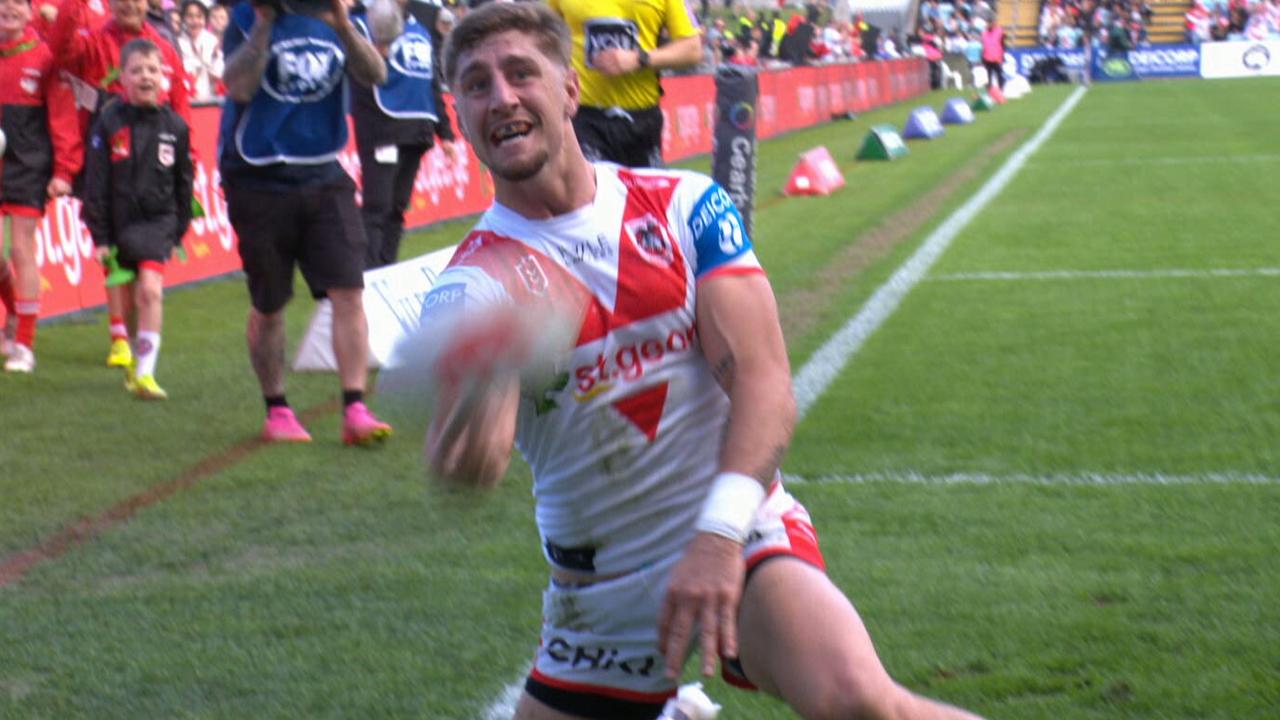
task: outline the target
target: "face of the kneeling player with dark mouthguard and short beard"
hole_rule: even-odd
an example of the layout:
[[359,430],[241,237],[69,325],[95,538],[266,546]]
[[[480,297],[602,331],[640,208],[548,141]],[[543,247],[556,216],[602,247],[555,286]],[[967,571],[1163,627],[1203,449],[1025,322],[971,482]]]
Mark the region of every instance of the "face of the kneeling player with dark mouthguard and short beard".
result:
[[462,132],[495,177],[526,181],[564,150],[566,128],[577,110],[577,79],[532,37],[518,31],[494,35],[463,53],[458,68]]

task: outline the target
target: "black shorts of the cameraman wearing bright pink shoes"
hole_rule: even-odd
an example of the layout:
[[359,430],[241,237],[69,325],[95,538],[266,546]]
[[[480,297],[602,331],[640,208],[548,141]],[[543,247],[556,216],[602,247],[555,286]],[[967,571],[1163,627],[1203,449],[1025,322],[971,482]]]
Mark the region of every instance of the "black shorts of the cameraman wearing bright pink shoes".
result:
[[284,307],[293,297],[296,266],[316,299],[365,287],[365,228],[353,183],[288,192],[224,190],[255,310],[270,315]]

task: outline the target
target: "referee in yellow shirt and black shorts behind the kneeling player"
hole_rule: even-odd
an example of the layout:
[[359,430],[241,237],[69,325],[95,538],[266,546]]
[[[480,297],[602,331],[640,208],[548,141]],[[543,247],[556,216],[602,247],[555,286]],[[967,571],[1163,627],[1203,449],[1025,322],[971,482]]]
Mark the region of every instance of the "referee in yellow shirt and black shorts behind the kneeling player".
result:
[[[573,129],[588,160],[662,165],[658,70],[703,59],[698,20],[684,0],[550,0],[573,36],[582,102]],[[666,29],[669,41],[658,47]]]

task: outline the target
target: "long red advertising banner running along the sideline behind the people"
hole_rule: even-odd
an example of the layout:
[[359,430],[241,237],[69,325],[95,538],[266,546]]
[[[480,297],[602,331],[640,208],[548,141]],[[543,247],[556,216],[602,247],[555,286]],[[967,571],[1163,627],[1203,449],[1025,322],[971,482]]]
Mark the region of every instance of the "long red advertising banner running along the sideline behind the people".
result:
[[[923,59],[820,65],[759,73],[760,96],[756,104],[756,137],[814,126],[845,111],[864,111],[888,102],[914,97],[928,90]],[[663,78],[662,150],[668,160],[680,160],[712,151],[716,127],[716,81],[712,76]],[[452,115],[452,97],[447,97]],[[192,146],[196,161],[195,193],[205,217],[191,224],[183,240],[187,261],[165,268],[165,284],[172,287],[239,269],[236,233],[227,218],[218,176],[218,123],[221,110],[195,108]],[[456,126],[454,126],[456,127]],[[424,159],[413,184],[413,197],[406,214],[407,227],[421,227],[479,213],[493,199],[493,181],[466,142],[466,161],[454,163],[439,149]],[[360,182],[360,159],[355,140],[339,155],[347,173]],[[102,268],[93,259],[93,241],[79,219],[79,201],[50,202],[37,234],[36,259],[41,273],[40,307],[42,318],[63,315],[102,305]]]

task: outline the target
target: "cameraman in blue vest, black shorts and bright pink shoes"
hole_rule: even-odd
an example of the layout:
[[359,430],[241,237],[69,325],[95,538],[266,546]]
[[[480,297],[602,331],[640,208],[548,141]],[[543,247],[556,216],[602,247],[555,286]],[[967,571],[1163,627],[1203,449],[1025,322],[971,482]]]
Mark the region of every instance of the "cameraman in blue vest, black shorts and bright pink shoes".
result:
[[241,3],[223,37],[227,104],[219,170],[248,279],[248,354],[266,402],[262,439],[311,436],[284,397],[284,306],[293,269],[333,302],[342,439],[380,442],[390,427],[365,406],[369,325],[361,300],[365,229],[356,186],[338,164],[347,145],[347,76],[387,79],[343,0]]

